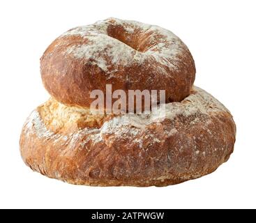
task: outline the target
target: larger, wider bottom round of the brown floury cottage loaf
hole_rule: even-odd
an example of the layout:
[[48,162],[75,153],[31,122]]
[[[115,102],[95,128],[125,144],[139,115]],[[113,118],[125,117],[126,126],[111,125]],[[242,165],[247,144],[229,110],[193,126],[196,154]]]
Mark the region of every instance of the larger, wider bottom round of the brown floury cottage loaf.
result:
[[24,124],[20,151],[31,169],[68,183],[165,186],[213,172],[235,134],[229,111],[194,87],[149,115],[96,116],[50,99]]

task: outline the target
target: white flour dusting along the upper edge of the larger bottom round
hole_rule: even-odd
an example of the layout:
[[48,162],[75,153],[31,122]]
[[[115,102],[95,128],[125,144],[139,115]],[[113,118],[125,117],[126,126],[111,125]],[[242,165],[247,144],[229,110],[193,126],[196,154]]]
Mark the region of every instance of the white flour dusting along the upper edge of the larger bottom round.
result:
[[[65,107],[65,105],[62,105]],[[64,109],[65,110],[65,109]],[[67,112],[67,110],[66,110]],[[82,111],[81,111],[82,112]],[[147,115],[125,114],[116,116],[109,121],[105,121],[101,128],[83,128],[68,135],[50,131],[43,123],[43,120],[37,110],[33,111],[25,123],[25,132],[27,134],[36,133],[37,137],[44,139],[56,139],[68,141],[70,147],[75,145],[77,141],[82,141],[81,146],[91,141],[97,144],[105,141],[105,137],[130,138],[135,139],[137,136],[152,137],[152,143],[159,143],[156,136],[145,134],[149,126],[153,123],[160,123],[165,119],[174,120],[177,116],[193,116],[195,114],[210,114],[218,112],[229,112],[218,100],[213,98],[209,93],[194,87],[194,93],[189,95],[182,102],[172,102],[160,109],[157,113]],[[82,112],[84,114],[84,112]],[[85,112],[86,113],[86,112]],[[193,122],[197,122],[197,117]],[[167,137],[179,133],[175,128],[165,132]],[[143,141],[143,139],[142,139]],[[136,139],[134,142],[142,147],[142,141]]]

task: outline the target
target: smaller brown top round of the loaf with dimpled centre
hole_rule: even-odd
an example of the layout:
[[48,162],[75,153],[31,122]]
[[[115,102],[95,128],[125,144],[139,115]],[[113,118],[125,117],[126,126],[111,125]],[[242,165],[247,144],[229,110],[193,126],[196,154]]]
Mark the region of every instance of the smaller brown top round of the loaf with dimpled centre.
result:
[[[91,91],[165,90],[189,95],[195,63],[188,47],[159,26],[110,18],[63,33],[40,59],[45,89],[65,105],[90,107]],[[114,100],[112,101],[114,103]]]

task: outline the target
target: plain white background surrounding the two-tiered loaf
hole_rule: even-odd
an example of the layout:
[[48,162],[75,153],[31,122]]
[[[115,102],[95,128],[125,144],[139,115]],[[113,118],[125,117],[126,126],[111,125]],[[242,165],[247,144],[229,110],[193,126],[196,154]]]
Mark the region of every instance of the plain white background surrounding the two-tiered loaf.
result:
[[[0,208],[256,208],[255,1],[0,1]],[[49,95],[45,48],[73,26],[107,17],[157,24],[195,59],[195,84],[232,112],[229,161],[209,176],[169,187],[86,187],[34,173],[19,152],[22,124]]]

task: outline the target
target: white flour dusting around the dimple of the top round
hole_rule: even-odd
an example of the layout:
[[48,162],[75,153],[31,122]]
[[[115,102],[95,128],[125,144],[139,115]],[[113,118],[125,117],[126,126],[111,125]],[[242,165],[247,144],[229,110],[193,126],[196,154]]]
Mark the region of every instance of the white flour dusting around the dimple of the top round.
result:
[[[147,44],[150,45],[146,52],[136,49],[112,38],[107,33],[110,25],[122,26],[126,33],[133,35],[140,30],[140,35],[145,35]],[[178,69],[179,54],[184,52],[186,46],[171,31],[160,26],[143,24],[142,22],[118,20],[110,18],[88,26],[79,26],[63,33],[61,37],[81,36],[89,42],[84,45],[72,45],[66,49],[66,54],[71,54],[77,59],[93,60],[102,70],[109,72],[109,67],[115,64],[130,66],[132,63],[143,63],[145,59],[152,59],[158,63]],[[140,47],[140,45],[138,45]],[[111,59],[111,61],[109,61]],[[162,69],[163,70],[163,69]],[[165,72],[163,72],[165,75]]]

